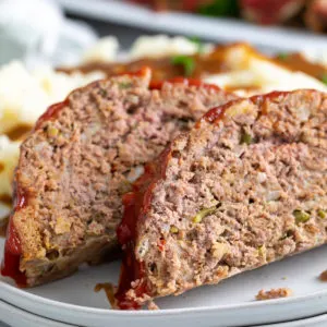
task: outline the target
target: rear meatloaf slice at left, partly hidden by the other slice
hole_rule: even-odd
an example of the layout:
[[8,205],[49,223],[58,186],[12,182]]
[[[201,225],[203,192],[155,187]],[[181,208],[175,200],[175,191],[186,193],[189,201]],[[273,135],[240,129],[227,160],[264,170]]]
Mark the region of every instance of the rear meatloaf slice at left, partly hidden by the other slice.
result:
[[179,132],[234,98],[201,82],[149,87],[150,71],[74,90],[21,148],[2,274],[21,287],[116,253],[121,195]]

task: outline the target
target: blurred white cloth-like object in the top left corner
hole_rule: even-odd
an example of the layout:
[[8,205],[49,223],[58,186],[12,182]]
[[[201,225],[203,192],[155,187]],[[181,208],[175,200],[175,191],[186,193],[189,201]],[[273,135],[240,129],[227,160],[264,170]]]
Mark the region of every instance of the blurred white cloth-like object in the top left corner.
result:
[[84,22],[66,20],[55,0],[0,1],[0,65],[76,64],[97,39]]

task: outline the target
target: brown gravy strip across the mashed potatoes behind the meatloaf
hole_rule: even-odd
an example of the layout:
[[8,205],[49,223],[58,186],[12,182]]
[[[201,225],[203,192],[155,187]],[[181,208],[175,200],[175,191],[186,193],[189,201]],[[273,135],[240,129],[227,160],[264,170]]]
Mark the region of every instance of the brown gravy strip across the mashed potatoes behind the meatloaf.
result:
[[[193,55],[186,56],[193,59],[194,69],[192,74],[187,77],[191,78],[202,78],[206,75],[219,74],[223,72],[229,72],[233,70],[227,58],[229,57],[229,51],[233,50],[233,47],[241,46],[245,51],[245,61],[246,56],[257,56],[265,60],[270,60],[271,62],[279,64],[286,69],[291,71],[301,71],[313,77],[322,80],[323,76],[327,74],[327,68],[323,64],[312,63],[306,60],[301,53],[287,53],[284,56],[276,56],[272,58],[266,57],[257,52],[254,48],[250,47],[246,44],[234,44],[234,45],[226,45],[226,46],[217,46],[210,53],[207,55]],[[68,69],[59,69],[59,71],[63,71],[65,73],[72,73],[80,71],[82,73],[89,73],[93,71],[102,71],[107,76],[134,72],[140,70],[143,66],[148,66],[153,70],[153,82],[160,82],[164,80],[171,80],[178,76],[184,76],[185,72],[183,66],[180,64],[174,64],[173,59],[174,56],[171,57],[162,57],[162,58],[143,58],[140,60],[131,61],[131,62],[113,62],[113,63],[104,63],[104,62],[93,62],[84,65],[68,68]],[[244,62],[246,63],[246,62]],[[246,64],[245,66],[246,68]],[[240,87],[241,88],[241,87]],[[252,87],[251,87],[252,88]]]

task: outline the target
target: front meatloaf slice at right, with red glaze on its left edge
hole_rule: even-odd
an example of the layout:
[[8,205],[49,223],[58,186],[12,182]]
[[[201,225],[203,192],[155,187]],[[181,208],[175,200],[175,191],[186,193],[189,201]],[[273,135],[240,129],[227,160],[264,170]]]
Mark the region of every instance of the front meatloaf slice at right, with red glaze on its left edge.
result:
[[327,240],[327,94],[211,109],[124,195],[121,308],[217,283]]

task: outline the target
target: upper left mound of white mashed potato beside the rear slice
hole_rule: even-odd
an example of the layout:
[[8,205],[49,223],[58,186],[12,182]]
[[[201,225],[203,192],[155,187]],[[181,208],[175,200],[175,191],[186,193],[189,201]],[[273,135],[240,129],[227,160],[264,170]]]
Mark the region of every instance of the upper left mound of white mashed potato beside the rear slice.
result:
[[29,73],[14,61],[0,70],[0,135],[20,125],[31,125],[53,102],[74,88],[101,78],[102,73],[66,75],[43,68]]

